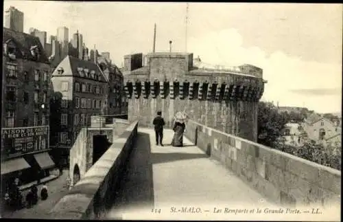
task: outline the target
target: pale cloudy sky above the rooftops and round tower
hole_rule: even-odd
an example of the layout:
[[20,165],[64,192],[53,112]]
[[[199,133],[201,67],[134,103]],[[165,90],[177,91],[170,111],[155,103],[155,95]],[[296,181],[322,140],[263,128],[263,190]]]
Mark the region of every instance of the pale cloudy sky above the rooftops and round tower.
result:
[[[30,27],[56,35],[78,30],[89,49],[123,56],[192,52],[214,65],[248,63],[263,69],[261,100],[319,113],[342,107],[342,4],[4,1],[24,12]],[[187,36],[187,38],[186,38]],[[187,39],[187,44],[186,44]],[[186,48],[187,45],[187,48]]]

